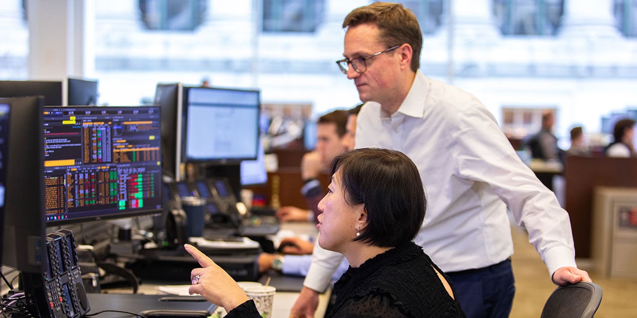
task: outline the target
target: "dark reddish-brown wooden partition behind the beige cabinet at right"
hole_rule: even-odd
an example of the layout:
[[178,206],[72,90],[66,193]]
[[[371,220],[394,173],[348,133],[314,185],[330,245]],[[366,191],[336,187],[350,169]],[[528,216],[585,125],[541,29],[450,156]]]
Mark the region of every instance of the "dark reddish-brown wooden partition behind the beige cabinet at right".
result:
[[596,186],[637,187],[637,158],[569,156],[564,165],[564,179],[575,256],[589,258],[593,190]]

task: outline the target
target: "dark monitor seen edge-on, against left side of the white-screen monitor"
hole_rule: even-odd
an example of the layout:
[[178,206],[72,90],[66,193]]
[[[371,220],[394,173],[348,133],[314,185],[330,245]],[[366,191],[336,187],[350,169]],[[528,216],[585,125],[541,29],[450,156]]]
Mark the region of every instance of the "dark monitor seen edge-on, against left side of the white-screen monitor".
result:
[[182,92],[181,83],[159,83],[155,89],[155,105],[162,113],[162,170],[175,181],[182,180]]

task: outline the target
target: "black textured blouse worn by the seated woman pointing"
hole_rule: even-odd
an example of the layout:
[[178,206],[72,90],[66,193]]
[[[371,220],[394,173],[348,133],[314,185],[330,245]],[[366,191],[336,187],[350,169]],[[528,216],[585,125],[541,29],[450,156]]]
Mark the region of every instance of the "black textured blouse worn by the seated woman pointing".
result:
[[[454,285],[422,247],[408,242],[350,267],[334,284],[336,303],[328,318],[465,317],[460,303],[449,296],[438,270],[455,294]],[[226,318],[261,317],[254,301],[231,310]]]

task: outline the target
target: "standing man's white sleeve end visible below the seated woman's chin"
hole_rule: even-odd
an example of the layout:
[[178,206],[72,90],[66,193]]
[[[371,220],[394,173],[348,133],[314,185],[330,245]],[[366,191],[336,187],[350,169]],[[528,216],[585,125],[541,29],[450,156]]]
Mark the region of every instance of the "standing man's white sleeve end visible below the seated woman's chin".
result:
[[314,244],[312,263],[303,281],[303,286],[323,293],[331,283],[332,275],[334,275],[334,271],[336,271],[341,261],[343,261],[342,254],[327,251],[318,246],[318,244]]

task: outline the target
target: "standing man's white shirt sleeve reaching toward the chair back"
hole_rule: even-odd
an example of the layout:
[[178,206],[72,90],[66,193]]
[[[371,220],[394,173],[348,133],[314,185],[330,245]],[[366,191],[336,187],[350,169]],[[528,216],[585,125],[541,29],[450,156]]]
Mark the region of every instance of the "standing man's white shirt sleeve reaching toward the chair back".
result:
[[492,115],[484,107],[469,107],[459,125],[457,135],[451,136],[456,141],[459,174],[489,184],[517,224],[529,232],[529,242],[550,275],[557,268],[576,266],[568,212],[520,160]]

